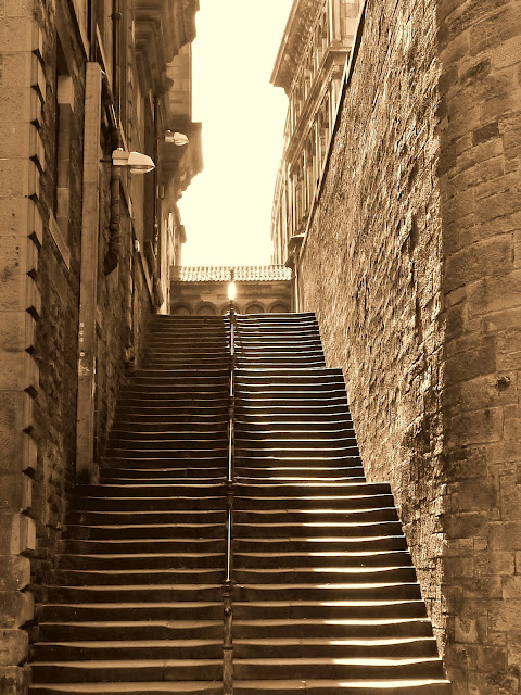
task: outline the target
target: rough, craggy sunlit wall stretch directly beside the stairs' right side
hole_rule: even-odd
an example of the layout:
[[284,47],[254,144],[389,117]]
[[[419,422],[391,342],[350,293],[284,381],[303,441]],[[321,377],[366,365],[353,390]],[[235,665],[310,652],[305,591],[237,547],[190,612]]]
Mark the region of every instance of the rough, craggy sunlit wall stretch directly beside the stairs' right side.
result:
[[300,291],[328,364],[344,369],[368,479],[392,483],[441,628],[435,47],[432,3],[369,2]]

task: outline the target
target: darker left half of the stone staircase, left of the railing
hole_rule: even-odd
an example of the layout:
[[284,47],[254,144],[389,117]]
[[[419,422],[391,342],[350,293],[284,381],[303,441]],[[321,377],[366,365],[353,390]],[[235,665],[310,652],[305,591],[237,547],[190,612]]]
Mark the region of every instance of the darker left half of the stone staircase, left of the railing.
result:
[[78,489],[39,609],[31,695],[221,688],[229,348],[221,318],[157,316]]

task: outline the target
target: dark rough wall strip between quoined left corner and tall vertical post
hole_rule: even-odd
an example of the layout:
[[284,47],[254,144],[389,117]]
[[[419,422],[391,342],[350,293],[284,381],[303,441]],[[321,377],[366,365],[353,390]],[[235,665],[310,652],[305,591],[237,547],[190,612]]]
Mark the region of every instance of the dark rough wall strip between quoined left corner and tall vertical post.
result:
[[[61,21],[64,16],[61,15]],[[75,418],[78,334],[79,264],[81,236],[81,152],[84,128],[84,60],[76,42],[63,41],[72,78],[69,130],[69,217],[66,228],[55,222],[56,198],[56,13],[35,4],[35,27],[41,41],[45,100],[39,128],[46,160],[38,207],[43,219],[42,243],[36,283],[41,312],[35,343],[39,367],[39,392],[35,400],[34,435],[38,442],[38,467],[34,476],[33,515],[37,548],[31,561],[31,589],[42,597],[56,555],[66,511],[67,493],[74,484],[76,456]],[[61,31],[63,37],[63,31]],[[72,349],[73,348],[73,349]]]

